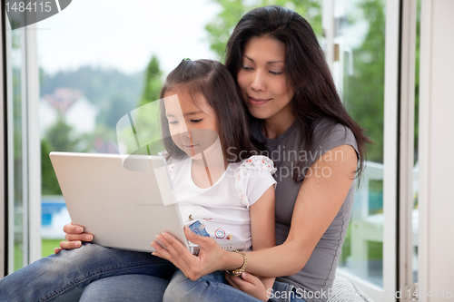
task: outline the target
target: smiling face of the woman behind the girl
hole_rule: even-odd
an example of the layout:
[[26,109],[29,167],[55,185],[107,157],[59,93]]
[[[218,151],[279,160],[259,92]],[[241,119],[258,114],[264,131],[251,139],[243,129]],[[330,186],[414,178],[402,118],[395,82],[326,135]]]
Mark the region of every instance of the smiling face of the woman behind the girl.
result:
[[285,45],[271,37],[253,37],[244,46],[237,82],[249,112],[258,119],[293,119],[285,73]]

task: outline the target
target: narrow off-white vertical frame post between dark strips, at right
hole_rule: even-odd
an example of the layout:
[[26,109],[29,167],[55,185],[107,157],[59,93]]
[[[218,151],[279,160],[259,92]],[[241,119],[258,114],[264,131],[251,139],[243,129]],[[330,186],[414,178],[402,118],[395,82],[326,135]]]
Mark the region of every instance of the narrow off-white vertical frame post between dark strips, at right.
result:
[[415,128],[415,68],[417,0],[402,2],[400,37],[399,145],[399,290],[400,301],[412,301],[413,285],[413,167]]

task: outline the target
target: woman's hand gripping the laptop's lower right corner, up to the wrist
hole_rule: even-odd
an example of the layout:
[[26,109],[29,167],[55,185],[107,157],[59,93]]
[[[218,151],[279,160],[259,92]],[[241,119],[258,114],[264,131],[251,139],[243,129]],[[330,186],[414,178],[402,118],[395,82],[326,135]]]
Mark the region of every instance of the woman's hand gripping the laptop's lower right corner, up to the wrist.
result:
[[188,240],[199,245],[198,256],[192,255],[189,249],[184,247],[178,239],[167,233],[156,236],[165,248],[161,247],[157,242],[151,243],[152,247],[156,249],[153,255],[171,261],[175,267],[180,268],[183,274],[192,281],[222,269],[221,259],[228,251],[222,249],[214,239],[199,236],[187,227],[184,228],[184,234]]

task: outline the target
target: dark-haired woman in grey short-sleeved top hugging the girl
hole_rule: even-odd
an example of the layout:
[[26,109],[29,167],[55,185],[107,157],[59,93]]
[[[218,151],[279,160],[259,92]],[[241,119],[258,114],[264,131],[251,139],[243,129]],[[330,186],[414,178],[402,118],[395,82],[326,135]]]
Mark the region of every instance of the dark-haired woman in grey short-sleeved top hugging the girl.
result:
[[[252,115],[252,135],[278,169],[276,247],[246,253],[245,271],[281,277],[275,297],[293,290],[293,296],[306,301],[325,301],[349,226],[352,180],[369,140],[343,108],[310,24],[295,12],[267,6],[244,15],[227,44],[226,65]],[[169,235],[159,238],[169,251],[153,244],[153,254],[170,260],[192,280],[242,267],[240,255],[186,234],[203,248],[203,258],[192,256]],[[255,297],[264,290],[248,274],[226,278]],[[192,293],[201,293],[209,285],[192,282],[191,287]],[[216,295],[229,297],[229,290],[222,287]],[[173,295],[178,298],[206,297]]]

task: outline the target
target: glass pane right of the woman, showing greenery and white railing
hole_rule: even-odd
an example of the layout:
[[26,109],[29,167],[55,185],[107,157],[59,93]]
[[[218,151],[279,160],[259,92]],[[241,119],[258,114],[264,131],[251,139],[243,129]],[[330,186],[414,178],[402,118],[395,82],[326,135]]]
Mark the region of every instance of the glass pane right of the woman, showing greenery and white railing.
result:
[[383,105],[385,1],[339,1],[335,80],[351,117],[374,144],[356,191],[340,268],[383,286]]

